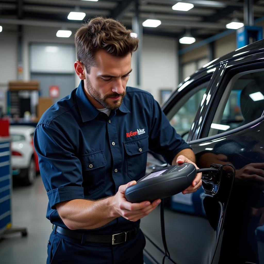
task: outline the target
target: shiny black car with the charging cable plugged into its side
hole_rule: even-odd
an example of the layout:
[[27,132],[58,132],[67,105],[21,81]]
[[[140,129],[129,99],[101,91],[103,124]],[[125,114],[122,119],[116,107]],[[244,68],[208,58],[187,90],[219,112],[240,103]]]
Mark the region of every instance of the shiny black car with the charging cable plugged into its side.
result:
[[[203,188],[164,199],[141,221],[145,263],[264,263],[264,40],[186,78],[163,105],[190,144]],[[147,169],[166,166],[149,154]]]

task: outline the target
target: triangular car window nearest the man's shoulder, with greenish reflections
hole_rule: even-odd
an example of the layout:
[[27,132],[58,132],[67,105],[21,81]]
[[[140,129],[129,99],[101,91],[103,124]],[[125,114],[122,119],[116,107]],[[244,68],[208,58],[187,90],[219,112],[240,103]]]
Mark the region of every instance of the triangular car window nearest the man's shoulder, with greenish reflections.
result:
[[187,140],[197,109],[205,100],[205,91],[209,81],[200,84],[175,103],[167,114],[170,124],[184,140]]

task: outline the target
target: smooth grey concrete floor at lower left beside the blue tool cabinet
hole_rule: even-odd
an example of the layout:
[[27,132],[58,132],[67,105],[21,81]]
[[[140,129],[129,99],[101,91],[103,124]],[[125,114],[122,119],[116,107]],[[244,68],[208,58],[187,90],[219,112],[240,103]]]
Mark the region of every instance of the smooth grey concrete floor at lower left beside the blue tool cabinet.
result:
[[33,186],[14,186],[12,194],[13,227],[26,227],[28,235],[5,235],[0,241],[1,264],[44,264],[52,225],[46,219],[48,197],[37,176]]

